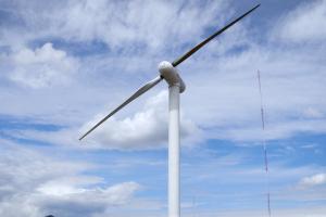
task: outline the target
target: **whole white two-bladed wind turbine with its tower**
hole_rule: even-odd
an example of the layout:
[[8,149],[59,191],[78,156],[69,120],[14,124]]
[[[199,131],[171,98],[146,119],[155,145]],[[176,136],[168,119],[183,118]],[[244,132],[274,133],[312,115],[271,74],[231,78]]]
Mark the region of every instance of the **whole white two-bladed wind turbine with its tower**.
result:
[[179,170],[179,150],[180,150],[180,126],[179,126],[179,94],[186,89],[185,82],[179,76],[176,66],[187,60],[190,55],[197,52],[200,48],[206,44],[209,41],[221,35],[230,26],[239,22],[241,18],[250,14],[260,4],[255,5],[251,10],[243,13],[241,16],[228,23],[223,28],[215,31],[205,40],[198,43],[191,50],[186,52],[180,58],[176,59],[172,63],[163,61],[159,64],[160,75],[153,80],[147,82],[139,88],[131,97],[125,100],[121,105],[114,108],[109,115],[90,128],[79,140],[89,135],[92,130],[103,124],[108,118],[114,115],[117,111],[126,106],[128,103],[147,92],[149,89],[158,85],[161,80],[165,80],[168,85],[168,217],[180,216],[180,170]]

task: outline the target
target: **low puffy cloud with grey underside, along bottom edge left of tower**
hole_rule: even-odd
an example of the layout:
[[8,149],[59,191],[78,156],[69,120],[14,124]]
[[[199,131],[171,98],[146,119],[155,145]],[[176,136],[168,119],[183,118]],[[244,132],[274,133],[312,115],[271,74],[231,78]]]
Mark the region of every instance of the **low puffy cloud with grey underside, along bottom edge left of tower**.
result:
[[[53,190],[58,188],[53,194]],[[108,188],[74,189],[71,192],[61,192],[62,187],[48,187],[39,191],[37,205],[55,216],[93,216],[105,212],[110,206],[129,203],[134,193],[139,190],[136,182],[123,182]],[[60,194],[59,194],[60,192]],[[91,203],[90,203],[91,202]]]

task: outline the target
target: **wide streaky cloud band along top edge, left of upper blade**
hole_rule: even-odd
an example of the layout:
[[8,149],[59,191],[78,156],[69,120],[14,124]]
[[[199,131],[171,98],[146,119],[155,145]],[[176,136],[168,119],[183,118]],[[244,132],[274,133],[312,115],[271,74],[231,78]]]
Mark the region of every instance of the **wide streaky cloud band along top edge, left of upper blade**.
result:
[[[15,14],[26,24],[20,29],[25,34],[20,37],[24,41],[57,37],[70,41],[103,41],[111,49],[138,44],[159,52],[164,50],[166,40],[189,42],[192,40],[189,36],[200,36],[203,26],[224,18],[216,15],[226,7],[226,1],[201,4],[200,1],[71,0],[55,1],[49,8],[33,0],[28,3],[16,1],[12,7],[20,9]],[[5,41],[11,41],[17,30],[8,28],[10,30],[1,31]],[[37,31],[33,31],[35,29]]]

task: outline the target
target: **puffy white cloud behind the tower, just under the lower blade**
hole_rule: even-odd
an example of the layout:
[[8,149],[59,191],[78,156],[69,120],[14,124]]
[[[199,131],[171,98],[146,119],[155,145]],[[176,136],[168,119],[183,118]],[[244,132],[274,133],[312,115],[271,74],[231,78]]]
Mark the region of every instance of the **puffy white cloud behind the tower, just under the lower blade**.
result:
[[[150,98],[140,112],[133,117],[116,119],[112,117],[96,129],[90,141],[108,149],[156,149],[167,143],[168,127],[167,91]],[[85,132],[104,115],[98,115],[93,120],[83,126]],[[200,138],[200,129],[191,119],[181,115],[181,137],[184,144],[191,144]],[[87,141],[87,138],[86,138]]]

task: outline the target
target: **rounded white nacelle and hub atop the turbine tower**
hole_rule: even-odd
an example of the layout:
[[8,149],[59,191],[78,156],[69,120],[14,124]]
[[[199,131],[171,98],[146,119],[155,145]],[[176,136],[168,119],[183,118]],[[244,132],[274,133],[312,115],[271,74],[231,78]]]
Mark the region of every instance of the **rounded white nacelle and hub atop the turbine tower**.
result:
[[159,64],[159,72],[161,77],[168,84],[168,86],[179,86],[180,92],[186,90],[186,85],[177,69],[167,61],[163,61]]

